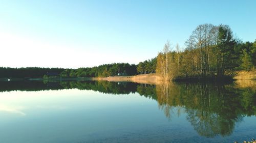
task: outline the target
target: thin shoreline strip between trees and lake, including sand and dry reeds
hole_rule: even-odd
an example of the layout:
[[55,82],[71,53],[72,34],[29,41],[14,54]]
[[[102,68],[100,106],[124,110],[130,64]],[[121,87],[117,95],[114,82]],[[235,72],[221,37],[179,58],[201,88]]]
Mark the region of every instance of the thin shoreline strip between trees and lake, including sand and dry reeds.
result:
[[[8,80],[9,79],[9,80]],[[156,73],[151,74],[139,74],[132,76],[109,76],[109,77],[75,77],[75,78],[60,78],[60,77],[50,77],[50,78],[0,78],[0,81],[87,81],[87,80],[104,80],[110,82],[136,82],[143,84],[161,84],[163,81],[162,77]],[[256,81],[256,71],[237,71],[236,76],[233,78],[228,77],[222,80],[216,77],[206,77],[206,78],[176,78],[173,81],[177,82],[233,82],[239,84],[250,83],[250,86],[255,85]]]

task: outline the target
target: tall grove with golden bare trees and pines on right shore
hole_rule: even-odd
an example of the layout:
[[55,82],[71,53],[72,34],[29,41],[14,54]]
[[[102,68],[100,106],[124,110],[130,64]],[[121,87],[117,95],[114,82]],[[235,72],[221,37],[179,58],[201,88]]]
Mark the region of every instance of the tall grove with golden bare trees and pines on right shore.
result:
[[254,70],[256,40],[234,38],[228,25],[198,25],[181,51],[167,41],[157,56],[156,72],[164,79],[232,76],[237,70]]

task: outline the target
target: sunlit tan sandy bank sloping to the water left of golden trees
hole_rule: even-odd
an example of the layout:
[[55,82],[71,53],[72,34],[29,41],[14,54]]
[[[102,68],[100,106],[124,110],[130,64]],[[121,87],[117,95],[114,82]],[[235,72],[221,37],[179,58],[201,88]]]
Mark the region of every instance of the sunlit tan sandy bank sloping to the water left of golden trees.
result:
[[153,74],[140,74],[135,76],[109,76],[105,78],[101,78],[101,80],[106,81],[131,81],[131,82],[137,82],[137,83],[146,83],[146,84],[160,84],[161,83],[161,77]]

